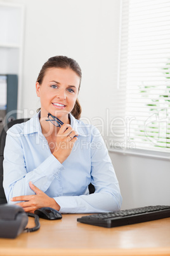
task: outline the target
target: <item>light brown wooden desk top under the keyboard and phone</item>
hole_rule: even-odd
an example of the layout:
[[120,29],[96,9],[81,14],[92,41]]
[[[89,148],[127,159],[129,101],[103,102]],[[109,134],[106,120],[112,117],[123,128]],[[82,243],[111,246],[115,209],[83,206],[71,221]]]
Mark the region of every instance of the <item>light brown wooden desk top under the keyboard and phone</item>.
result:
[[[81,216],[40,219],[39,231],[15,239],[1,238],[0,255],[170,255],[170,218],[107,229],[77,222]],[[34,226],[34,218],[29,217],[28,226]]]

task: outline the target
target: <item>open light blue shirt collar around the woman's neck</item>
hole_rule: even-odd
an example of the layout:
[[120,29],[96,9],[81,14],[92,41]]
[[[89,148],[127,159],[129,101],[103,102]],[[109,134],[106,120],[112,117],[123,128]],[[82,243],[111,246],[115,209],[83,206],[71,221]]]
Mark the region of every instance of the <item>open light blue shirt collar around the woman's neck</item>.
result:
[[[70,125],[72,128],[79,134],[79,136],[87,136],[87,131],[85,127],[87,128],[88,125],[84,125],[80,120],[75,119],[75,117],[70,113]],[[29,121],[25,122],[23,125],[23,129],[21,134],[32,134],[34,132],[40,132],[41,130],[41,124],[39,122],[40,117],[40,111],[34,115],[34,117],[30,118]]]

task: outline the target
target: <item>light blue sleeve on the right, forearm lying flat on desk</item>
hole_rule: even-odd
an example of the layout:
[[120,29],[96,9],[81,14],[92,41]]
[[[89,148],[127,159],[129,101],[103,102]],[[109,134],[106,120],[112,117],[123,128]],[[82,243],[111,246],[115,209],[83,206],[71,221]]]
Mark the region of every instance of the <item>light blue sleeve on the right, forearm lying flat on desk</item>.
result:
[[91,136],[91,183],[95,193],[55,197],[62,213],[100,213],[120,210],[122,197],[114,167],[103,138],[93,127]]

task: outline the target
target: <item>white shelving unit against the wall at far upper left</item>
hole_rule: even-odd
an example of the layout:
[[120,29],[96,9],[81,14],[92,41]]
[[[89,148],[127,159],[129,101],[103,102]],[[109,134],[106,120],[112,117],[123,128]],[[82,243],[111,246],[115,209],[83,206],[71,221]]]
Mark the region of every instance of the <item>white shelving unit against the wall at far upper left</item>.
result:
[[0,2],[0,74],[18,75],[18,110],[21,110],[24,8]]

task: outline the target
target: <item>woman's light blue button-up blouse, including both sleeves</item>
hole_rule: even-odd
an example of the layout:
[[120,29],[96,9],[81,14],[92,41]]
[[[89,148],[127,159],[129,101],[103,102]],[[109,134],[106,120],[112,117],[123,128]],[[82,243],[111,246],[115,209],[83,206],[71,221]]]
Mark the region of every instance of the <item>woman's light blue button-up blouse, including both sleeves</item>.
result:
[[[70,115],[78,132],[74,148],[61,164],[51,153],[41,131],[39,113],[11,127],[4,148],[3,187],[11,197],[35,194],[29,181],[53,197],[61,213],[98,213],[121,208],[119,183],[100,132]],[[95,186],[89,194],[88,185]]]

